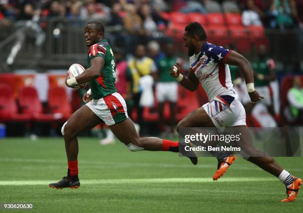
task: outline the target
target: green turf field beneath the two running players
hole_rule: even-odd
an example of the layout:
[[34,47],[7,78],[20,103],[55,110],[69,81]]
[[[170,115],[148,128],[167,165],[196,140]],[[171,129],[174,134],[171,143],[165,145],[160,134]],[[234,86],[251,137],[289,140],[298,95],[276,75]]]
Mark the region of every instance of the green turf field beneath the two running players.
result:
[[[303,192],[294,203],[280,203],[284,185],[240,157],[216,182],[215,158],[201,157],[192,166],[176,153],[133,153],[119,142],[101,146],[98,139],[80,138],[78,160],[81,187],[52,189],[48,183],[67,170],[62,138],[0,140],[0,203],[33,203],[28,212],[43,213],[303,210]],[[276,160],[303,177],[302,157]]]

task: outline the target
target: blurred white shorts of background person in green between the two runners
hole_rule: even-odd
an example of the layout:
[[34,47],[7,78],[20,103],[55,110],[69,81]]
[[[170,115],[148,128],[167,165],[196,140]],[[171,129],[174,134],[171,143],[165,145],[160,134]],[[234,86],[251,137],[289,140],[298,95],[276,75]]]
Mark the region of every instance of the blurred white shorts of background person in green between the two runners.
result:
[[159,103],[163,103],[165,101],[176,103],[178,101],[178,83],[177,82],[157,83],[156,98]]

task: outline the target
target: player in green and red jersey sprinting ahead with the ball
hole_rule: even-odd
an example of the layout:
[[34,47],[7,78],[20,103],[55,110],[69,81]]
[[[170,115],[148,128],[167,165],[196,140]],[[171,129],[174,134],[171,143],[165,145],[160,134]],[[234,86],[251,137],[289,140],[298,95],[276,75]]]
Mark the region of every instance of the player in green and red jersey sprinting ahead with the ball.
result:
[[[113,52],[104,37],[104,27],[101,22],[87,23],[85,29],[86,45],[89,47],[87,61],[88,69],[74,78],[66,77],[68,87],[77,87],[89,82],[91,89],[84,94],[87,103],[77,111],[62,126],[61,132],[65,141],[68,170],[62,180],[50,183],[52,188],[78,188],[78,140],[77,135],[85,130],[105,122],[113,134],[123,142],[130,151],[171,151],[179,152],[179,143],[162,140],[155,137],[140,138],[132,120],[127,115],[127,107],[122,96],[115,87],[116,62]],[[185,144],[184,144],[185,145]],[[182,147],[182,144],[181,144]],[[194,165],[198,163],[195,157],[190,157]]]

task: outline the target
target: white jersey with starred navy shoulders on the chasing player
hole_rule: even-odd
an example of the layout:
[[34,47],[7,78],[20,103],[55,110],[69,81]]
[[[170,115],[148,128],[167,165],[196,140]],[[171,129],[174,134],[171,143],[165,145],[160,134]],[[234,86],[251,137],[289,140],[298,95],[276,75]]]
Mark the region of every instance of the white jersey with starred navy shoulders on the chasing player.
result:
[[209,101],[218,95],[232,95],[233,89],[229,67],[224,63],[232,50],[204,42],[201,52],[190,57],[190,69],[194,70]]

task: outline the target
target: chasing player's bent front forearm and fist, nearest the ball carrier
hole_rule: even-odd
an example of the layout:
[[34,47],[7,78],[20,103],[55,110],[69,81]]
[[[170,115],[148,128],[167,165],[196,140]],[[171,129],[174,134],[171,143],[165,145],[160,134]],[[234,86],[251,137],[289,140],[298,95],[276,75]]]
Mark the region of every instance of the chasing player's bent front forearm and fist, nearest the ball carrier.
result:
[[[177,71],[174,69],[174,67],[177,68]],[[170,75],[173,76],[174,78],[178,79],[180,77],[180,71],[181,71],[181,66],[179,63],[176,63],[174,66],[170,68]],[[183,76],[181,74],[181,76]],[[199,87],[199,79],[196,77],[194,71],[190,69],[188,71],[188,76],[185,77],[183,76],[182,80],[179,82],[185,89],[188,89],[190,91],[195,91]]]

